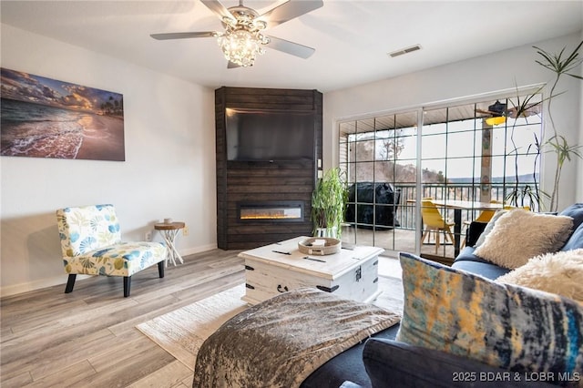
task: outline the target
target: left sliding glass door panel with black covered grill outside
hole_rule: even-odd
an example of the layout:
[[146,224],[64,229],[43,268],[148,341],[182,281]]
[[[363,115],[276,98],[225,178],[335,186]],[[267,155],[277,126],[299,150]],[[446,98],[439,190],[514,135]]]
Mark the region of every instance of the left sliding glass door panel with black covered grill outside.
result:
[[[349,189],[343,240],[385,250],[414,244],[417,111],[340,125],[340,168]],[[406,239],[405,239],[406,238]]]

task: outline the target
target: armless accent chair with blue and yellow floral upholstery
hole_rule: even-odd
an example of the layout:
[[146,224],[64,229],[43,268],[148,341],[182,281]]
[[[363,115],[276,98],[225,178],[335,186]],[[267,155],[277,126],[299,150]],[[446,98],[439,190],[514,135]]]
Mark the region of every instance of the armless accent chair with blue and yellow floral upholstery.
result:
[[123,276],[124,297],[129,296],[134,273],[158,263],[159,277],[164,277],[166,246],[159,242],[121,241],[113,205],[57,209],[56,221],[63,264],[69,274],[66,293],[73,291],[77,273]]

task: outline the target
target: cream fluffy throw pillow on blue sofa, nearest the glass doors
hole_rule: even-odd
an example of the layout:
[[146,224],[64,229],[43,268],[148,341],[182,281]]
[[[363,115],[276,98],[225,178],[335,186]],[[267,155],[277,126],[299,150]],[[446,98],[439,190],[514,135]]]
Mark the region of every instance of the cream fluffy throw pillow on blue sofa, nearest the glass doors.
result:
[[569,237],[573,219],[513,209],[502,215],[476,256],[510,270],[538,255],[556,252]]

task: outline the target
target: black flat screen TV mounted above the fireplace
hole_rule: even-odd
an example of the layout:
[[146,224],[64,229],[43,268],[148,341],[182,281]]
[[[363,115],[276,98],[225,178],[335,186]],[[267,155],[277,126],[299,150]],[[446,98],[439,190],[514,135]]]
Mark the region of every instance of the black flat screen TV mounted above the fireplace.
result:
[[226,109],[227,159],[313,160],[312,112]]

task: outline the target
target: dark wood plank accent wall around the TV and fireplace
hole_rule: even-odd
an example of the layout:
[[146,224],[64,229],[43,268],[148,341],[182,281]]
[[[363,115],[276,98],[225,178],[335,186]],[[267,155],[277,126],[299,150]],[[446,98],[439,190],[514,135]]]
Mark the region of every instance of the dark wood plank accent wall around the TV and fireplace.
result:
[[[313,111],[314,160],[227,160],[225,109]],[[271,242],[312,234],[312,190],[322,159],[322,93],[317,90],[220,87],[215,90],[217,147],[217,242],[223,250],[256,248]],[[276,128],[277,129],[277,128]],[[302,222],[240,222],[237,204],[302,200]]]

